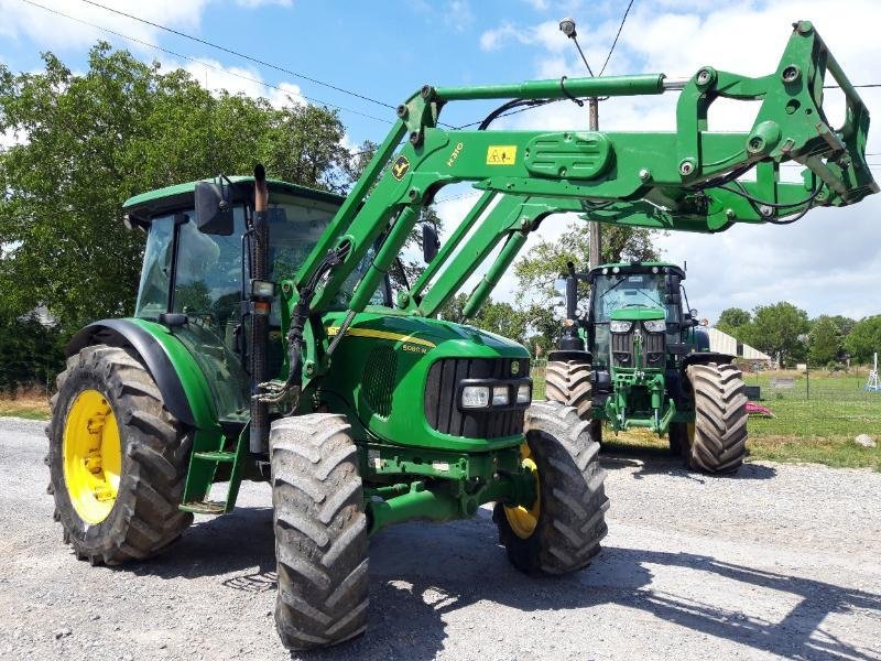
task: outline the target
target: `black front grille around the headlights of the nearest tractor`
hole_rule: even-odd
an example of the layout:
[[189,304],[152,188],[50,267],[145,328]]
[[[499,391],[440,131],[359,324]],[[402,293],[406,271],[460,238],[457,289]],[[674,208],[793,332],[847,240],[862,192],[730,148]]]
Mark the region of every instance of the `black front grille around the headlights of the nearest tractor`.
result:
[[[516,364],[516,368],[512,368]],[[443,358],[425,383],[425,418],[432,429],[453,436],[500,438],[523,432],[523,409],[460,411],[456,397],[463,379],[515,380],[529,376],[525,358]]]

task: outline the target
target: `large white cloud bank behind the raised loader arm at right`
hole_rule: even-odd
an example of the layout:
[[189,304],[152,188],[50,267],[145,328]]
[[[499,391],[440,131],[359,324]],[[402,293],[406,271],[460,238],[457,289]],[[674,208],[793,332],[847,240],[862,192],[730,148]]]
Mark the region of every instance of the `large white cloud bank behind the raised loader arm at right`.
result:
[[[586,11],[572,15],[578,19],[585,14]],[[859,20],[855,21],[855,17]],[[852,0],[847,11],[819,0],[638,3],[607,74],[654,72],[688,76],[703,65],[711,65],[739,74],[764,75],[776,68],[792,22],[805,18],[814,22],[852,82],[879,82],[881,40],[874,34],[874,25],[881,19],[881,3],[870,0]],[[607,19],[592,25],[578,21],[579,41],[595,71],[606,57],[618,22],[619,19]],[[535,77],[585,75],[577,52],[555,22],[502,28],[498,34],[481,36],[485,50],[529,43],[542,50]],[[881,117],[881,90],[864,89],[861,94],[870,112]],[[600,106],[600,128],[672,130],[676,101],[675,94],[611,99]],[[830,90],[826,109],[835,117],[840,116],[841,108],[841,95]],[[710,128],[746,130],[751,127],[755,110],[755,105],[719,102],[710,112]],[[575,127],[587,128],[587,108],[572,102],[522,112],[493,126],[542,130]],[[875,126],[870,131],[869,152],[881,152],[879,130]],[[797,172],[796,167],[784,169],[786,176]],[[687,260],[688,293],[701,316],[716,318],[731,305],[749,310],[757,304],[790,300],[812,316],[830,313],[858,318],[881,312],[879,216],[881,195],[852,207],[815,209],[792,226],[743,224],[717,235],[671,232],[657,245],[670,261]],[[565,224],[563,218],[548,218],[539,234],[551,238]],[[508,290],[497,291],[496,297],[513,297],[514,285],[510,279],[507,282]]]

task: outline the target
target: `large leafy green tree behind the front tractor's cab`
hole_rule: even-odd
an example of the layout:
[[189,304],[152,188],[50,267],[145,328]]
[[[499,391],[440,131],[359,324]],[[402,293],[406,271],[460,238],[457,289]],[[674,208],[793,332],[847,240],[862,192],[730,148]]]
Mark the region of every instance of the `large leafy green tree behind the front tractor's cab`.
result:
[[99,43],[73,74],[51,53],[39,73],[0,66],[0,130],[24,141],[0,153],[0,311],[45,305],[64,333],[130,313],[143,235],[122,225],[137,193],[218,172],[342,191],[351,156],[325,108],[273,108],[213,96],[176,69],[161,73]]

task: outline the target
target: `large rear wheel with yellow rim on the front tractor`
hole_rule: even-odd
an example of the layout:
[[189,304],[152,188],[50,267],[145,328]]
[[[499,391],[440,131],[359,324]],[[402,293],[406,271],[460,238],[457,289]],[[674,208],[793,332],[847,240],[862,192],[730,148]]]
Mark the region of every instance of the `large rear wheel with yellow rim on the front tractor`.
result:
[[64,541],[93,564],[154,555],[193,521],[177,509],[192,440],[130,349],[85,347],[57,387],[46,463]]

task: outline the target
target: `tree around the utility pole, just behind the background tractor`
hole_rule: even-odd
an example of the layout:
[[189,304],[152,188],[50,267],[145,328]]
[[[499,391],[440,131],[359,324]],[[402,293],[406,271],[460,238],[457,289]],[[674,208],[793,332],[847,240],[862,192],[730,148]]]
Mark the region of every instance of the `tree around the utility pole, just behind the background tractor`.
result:
[[[546,221],[545,221],[546,223]],[[602,229],[602,261],[651,261],[659,258],[652,245],[652,232],[640,227],[605,226]],[[555,281],[573,262],[585,270],[590,261],[588,225],[584,221],[569,224],[556,240],[543,240],[514,264],[518,279],[518,307],[525,315],[526,325],[545,338],[545,346],[554,346],[559,337],[561,319],[554,315],[558,293]],[[580,290],[586,300],[588,290]]]

